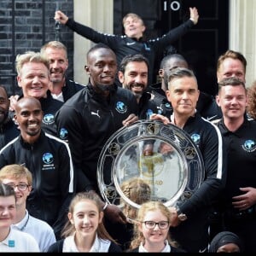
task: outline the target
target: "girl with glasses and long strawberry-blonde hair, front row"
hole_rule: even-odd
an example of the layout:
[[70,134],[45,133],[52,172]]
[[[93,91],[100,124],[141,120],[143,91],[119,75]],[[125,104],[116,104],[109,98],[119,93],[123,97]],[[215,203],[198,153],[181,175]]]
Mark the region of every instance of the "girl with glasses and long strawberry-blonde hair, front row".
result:
[[160,201],[148,201],[137,212],[128,253],[185,253],[169,234],[172,212]]

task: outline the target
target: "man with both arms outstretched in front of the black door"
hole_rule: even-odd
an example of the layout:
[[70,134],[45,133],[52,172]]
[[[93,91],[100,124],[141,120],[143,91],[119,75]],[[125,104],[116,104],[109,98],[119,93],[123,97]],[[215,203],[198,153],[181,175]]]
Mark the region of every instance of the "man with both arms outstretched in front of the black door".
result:
[[143,19],[133,13],[129,13],[123,18],[125,35],[111,35],[104,32],[96,32],[89,26],[84,26],[68,18],[60,10],[55,12],[55,20],[96,44],[107,44],[117,55],[118,65],[125,55],[143,54],[151,64],[148,69],[148,84],[152,84],[154,80],[154,61],[157,56],[162,55],[166,47],[170,47],[178,38],[189,32],[190,28],[197,24],[199,19],[197,9],[195,7],[189,8],[189,13],[189,20],[184,21],[180,26],[166,32],[160,38],[151,38],[148,40],[145,40],[143,37],[146,30]]

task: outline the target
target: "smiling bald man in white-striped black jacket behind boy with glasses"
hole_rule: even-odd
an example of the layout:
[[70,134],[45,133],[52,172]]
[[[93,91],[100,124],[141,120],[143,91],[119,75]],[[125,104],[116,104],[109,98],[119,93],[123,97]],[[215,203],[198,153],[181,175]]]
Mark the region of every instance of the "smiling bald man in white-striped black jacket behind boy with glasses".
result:
[[43,131],[43,117],[38,99],[25,96],[18,100],[15,121],[20,136],[0,150],[0,168],[17,164],[31,170],[33,181],[27,210],[52,226],[59,238],[74,192],[73,162],[68,144]]

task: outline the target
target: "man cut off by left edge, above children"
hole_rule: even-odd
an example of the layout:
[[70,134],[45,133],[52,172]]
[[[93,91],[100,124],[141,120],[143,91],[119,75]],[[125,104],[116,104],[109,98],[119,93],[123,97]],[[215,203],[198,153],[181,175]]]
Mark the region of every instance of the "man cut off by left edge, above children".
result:
[[9,98],[4,86],[0,85],[0,149],[20,134],[17,125],[9,117]]

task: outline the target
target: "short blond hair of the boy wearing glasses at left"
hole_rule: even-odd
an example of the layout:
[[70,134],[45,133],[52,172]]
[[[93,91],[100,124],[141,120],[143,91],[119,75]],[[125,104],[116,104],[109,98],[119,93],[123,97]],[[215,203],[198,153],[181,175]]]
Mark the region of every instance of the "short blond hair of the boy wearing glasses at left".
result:
[[4,178],[15,178],[19,179],[20,177],[26,177],[27,184],[32,186],[32,173],[25,167],[20,165],[8,165],[3,166],[0,170],[0,181],[3,181]]

